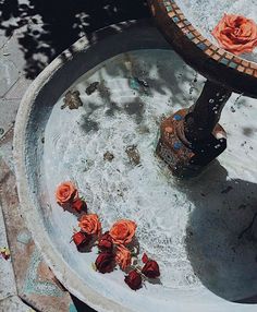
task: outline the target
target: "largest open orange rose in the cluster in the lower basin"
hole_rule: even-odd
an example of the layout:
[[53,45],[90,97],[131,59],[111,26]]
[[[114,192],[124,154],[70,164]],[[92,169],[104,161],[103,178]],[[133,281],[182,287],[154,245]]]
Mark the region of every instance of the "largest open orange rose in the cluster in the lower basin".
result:
[[110,236],[115,244],[127,244],[132,241],[136,224],[131,220],[119,220],[110,229]]

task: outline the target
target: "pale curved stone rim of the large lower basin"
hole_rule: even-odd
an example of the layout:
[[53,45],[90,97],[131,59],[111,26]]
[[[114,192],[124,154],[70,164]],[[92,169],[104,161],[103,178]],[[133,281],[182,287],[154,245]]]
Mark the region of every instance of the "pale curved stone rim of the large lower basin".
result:
[[[88,40],[86,37],[82,37],[75,44],[73,44],[70,48],[64,50],[60,56],[58,56],[30,84],[26,93],[24,94],[22,101],[20,104],[19,112],[15,120],[15,129],[14,129],[14,139],[13,139],[13,156],[14,156],[14,167],[15,167],[15,176],[16,176],[16,184],[17,184],[17,193],[20,200],[20,206],[22,211],[22,215],[25,218],[25,223],[28,229],[32,231],[33,239],[36,245],[39,248],[44,255],[44,260],[51,267],[57,278],[65,286],[65,288],[72,292],[75,297],[77,297],[83,302],[89,304],[91,308],[97,311],[117,311],[117,312],[130,312],[131,309],[127,309],[121,305],[118,302],[114,302],[96,290],[91,289],[89,286],[85,285],[85,283],[77,278],[77,275],[71,267],[69,267],[61,254],[57,252],[53,243],[51,242],[49,235],[44,227],[44,221],[40,218],[39,212],[32,206],[34,205],[34,201],[32,199],[32,190],[28,182],[27,169],[26,169],[26,125],[29,122],[29,117],[32,113],[33,106],[35,105],[36,98],[40,94],[41,89],[51,81],[54,74],[71,60],[74,59],[74,56],[85,52],[91,47],[95,47],[101,39],[108,36],[114,36],[119,33],[123,33],[126,29],[131,29],[133,27],[140,26],[151,26],[148,20],[142,21],[126,21],[118,24],[110,25],[102,29],[97,31],[91,35],[91,40]],[[160,35],[161,37],[161,35]],[[146,46],[148,48],[154,48],[155,43],[147,43]],[[169,45],[164,41],[164,39],[160,39],[160,46],[162,48],[169,49]],[[144,49],[144,45],[138,47],[139,49]],[[124,52],[124,51],[121,51]],[[114,53],[117,55],[117,53]],[[107,57],[108,59],[108,57]],[[91,65],[91,68],[94,68]],[[79,76],[79,75],[78,75]],[[70,85],[69,85],[70,86]],[[64,89],[66,87],[64,86]],[[60,96],[60,95],[59,95]],[[35,193],[35,191],[33,192]],[[32,228],[32,225],[34,227]],[[69,267],[69,269],[66,269]],[[74,275],[76,277],[74,277]]]

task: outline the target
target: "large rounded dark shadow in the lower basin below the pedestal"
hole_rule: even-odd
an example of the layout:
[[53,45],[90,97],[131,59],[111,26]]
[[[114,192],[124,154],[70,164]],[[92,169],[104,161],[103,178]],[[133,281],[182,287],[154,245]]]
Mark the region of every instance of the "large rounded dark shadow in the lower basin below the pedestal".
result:
[[257,184],[229,179],[217,161],[183,188],[195,205],[186,235],[195,274],[221,298],[257,303]]

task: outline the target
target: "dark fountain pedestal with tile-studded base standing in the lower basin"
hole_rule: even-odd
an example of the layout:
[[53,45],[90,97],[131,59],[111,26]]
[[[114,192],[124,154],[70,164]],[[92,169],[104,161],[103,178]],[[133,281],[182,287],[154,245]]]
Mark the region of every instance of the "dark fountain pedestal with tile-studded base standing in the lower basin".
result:
[[207,81],[195,105],[161,122],[157,154],[174,176],[197,176],[225,149],[225,131],[218,121],[230,96],[225,87]]

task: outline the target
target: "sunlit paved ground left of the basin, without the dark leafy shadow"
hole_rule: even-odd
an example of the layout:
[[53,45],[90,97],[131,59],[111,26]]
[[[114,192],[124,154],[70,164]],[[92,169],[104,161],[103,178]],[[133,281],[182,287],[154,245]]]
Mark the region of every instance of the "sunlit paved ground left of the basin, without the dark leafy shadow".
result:
[[0,312],[32,312],[29,305],[46,312],[76,311],[69,292],[35,248],[20,211],[13,128],[20,101],[32,83],[23,72],[26,61],[19,45],[20,34],[16,31],[7,37],[0,33],[0,248],[11,250],[8,261],[0,256]]

